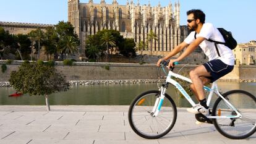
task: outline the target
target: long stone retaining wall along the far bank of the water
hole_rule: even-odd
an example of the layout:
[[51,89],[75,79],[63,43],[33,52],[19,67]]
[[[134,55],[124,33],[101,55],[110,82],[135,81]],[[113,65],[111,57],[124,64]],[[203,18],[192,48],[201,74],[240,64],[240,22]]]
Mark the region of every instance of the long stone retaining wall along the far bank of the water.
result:
[[[20,61],[7,65],[7,70],[0,70],[0,82],[7,82],[12,70],[17,70]],[[75,66],[64,66],[56,62],[56,69],[66,76],[67,80],[133,80],[133,79],[158,79],[158,67],[155,64],[121,64],[121,63],[94,63],[74,62]],[[0,65],[5,61],[0,61]],[[174,69],[177,72],[184,65]],[[187,65],[181,72],[189,72],[196,65]],[[235,66],[233,72],[221,78],[222,80],[256,80],[256,66]],[[163,72],[161,71],[163,76]]]

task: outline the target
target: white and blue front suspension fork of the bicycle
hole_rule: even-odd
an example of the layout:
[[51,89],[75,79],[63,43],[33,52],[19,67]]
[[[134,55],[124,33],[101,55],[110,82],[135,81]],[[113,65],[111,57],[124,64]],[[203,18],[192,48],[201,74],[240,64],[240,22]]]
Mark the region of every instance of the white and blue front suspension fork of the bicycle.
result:
[[150,112],[152,117],[158,116],[158,113],[160,112],[161,106],[163,105],[163,100],[165,97],[165,91],[167,89],[168,85],[164,85],[160,88],[160,96],[156,98],[153,110]]

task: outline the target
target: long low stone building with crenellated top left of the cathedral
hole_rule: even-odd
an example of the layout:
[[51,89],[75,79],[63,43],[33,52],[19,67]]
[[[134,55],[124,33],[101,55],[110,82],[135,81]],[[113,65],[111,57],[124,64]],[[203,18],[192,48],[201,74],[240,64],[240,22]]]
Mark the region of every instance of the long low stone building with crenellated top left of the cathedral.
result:
[[12,35],[25,35],[30,33],[32,30],[36,30],[37,28],[40,28],[45,32],[47,27],[54,27],[54,25],[39,23],[0,22],[0,27],[4,28],[5,31],[9,31],[9,33]]

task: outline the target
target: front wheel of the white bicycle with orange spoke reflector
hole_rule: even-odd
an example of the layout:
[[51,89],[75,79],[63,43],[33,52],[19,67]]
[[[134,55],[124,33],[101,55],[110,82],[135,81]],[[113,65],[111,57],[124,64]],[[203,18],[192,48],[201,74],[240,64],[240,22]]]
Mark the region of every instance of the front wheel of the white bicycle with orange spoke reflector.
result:
[[130,105],[128,112],[130,127],[140,137],[160,138],[173,129],[177,118],[177,109],[169,95],[165,94],[158,116],[153,116],[151,113],[158,97],[160,97],[160,91],[146,91],[137,96]]

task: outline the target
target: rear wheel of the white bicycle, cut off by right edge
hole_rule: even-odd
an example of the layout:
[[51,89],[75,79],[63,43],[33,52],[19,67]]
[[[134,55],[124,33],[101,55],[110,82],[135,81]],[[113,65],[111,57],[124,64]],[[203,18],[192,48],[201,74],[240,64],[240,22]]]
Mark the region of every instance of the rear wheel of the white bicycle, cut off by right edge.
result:
[[[216,129],[225,137],[232,139],[247,138],[256,131],[256,98],[243,90],[232,90],[223,94],[231,103],[241,118],[213,119]],[[236,112],[218,98],[213,106],[213,116],[236,116]]]

